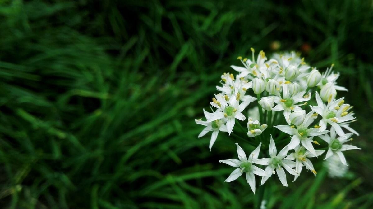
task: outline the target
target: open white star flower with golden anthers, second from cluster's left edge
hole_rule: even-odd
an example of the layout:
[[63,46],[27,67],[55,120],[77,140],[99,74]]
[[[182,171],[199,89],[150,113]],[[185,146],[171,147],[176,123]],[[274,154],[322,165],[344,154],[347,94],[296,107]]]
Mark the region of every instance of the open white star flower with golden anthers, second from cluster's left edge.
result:
[[[213,102],[210,102],[210,104],[218,109],[220,109],[219,112],[211,113],[212,116],[210,119],[207,119],[207,122],[212,122],[217,119],[223,119],[226,118],[226,126],[228,129],[228,134],[231,135],[233,126],[236,123],[235,118],[238,120],[245,120],[246,117],[241,113],[251,102],[251,100],[246,100],[245,102],[242,102],[239,104],[239,94],[236,94],[235,96],[231,96],[231,98],[228,98],[228,96],[222,96],[221,94],[215,95],[215,98],[213,98]],[[254,97],[253,97],[254,98]],[[254,98],[256,100],[256,98]]]

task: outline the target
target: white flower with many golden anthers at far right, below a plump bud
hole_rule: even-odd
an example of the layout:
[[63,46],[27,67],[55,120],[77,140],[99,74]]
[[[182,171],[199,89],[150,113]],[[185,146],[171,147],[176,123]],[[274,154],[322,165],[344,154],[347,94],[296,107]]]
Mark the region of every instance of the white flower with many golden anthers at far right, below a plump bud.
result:
[[311,109],[322,116],[319,122],[319,131],[326,130],[326,124],[329,123],[335,128],[335,131],[339,136],[344,136],[345,133],[341,128],[340,123],[348,122],[355,119],[353,114],[349,114],[347,111],[351,109],[350,105],[343,104],[344,97],[338,100],[333,100],[327,105],[321,100],[319,93],[316,91],[316,101],[318,106],[311,106]]

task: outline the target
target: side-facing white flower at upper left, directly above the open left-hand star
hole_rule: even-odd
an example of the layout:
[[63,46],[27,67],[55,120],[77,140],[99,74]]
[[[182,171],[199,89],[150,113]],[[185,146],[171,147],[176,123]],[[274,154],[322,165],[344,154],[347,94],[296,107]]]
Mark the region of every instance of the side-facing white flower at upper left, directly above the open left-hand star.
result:
[[230,98],[231,96],[239,95],[239,99],[242,102],[246,100],[250,100],[250,102],[253,102],[256,100],[256,98],[253,96],[245,95],[246,91],[248,89],[251,89],[253,86],[253,83],[251,81],[248,82],[247,80],[238,78],[234,79],[233,74],[227,73],[222,75],[222,81],[224,82],[223,86],[216,86],[216,89],[218,91],[221,91],[223,96],[226,95],[228,98]]

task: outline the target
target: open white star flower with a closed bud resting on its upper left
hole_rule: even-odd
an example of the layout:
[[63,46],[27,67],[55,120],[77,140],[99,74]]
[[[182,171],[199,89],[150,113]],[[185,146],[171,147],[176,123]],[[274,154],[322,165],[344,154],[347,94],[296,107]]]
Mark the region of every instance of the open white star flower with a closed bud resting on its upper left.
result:
[[308,128],[308,126],[310,126],[311,123],[313,123],[314,118],[316,116],[317,114],[314,115],[313,111],[311,111],[305,116],[303,123],[301,123],[299,126],[278,125],[274,127],[292,136],[290,143],[288,144],[289,149],[294,149],[299,144],[302,144],[313,155],[317,155],[312,143],[315,143],[315,144],[318,144],[318,143],[316,141],[312,141],[312,139],[314,136],[326,134],[329,131],[325,130],[325,131],[319,132],[317,130],[319,126],[316,126],[316,128]]

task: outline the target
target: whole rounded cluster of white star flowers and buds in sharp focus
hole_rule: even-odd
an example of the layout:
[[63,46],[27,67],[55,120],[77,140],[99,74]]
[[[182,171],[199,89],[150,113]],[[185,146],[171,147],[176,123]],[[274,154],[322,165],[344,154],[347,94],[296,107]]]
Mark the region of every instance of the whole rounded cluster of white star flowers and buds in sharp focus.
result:
[[[225,181],[233,181],[246,173],[247,182],[255,193],[254,174],[261,176],[261,184],[264,184],[277,173],[281,183],[288,186],[285,170],[294,176],[294,181],[303,166],[316,176],[309,158],[317,158],[326,150],[325,159],[338,156],[340,163],[347,165],[342,152],[359,148],[344,143],[352,140],[352,134],[358,133],[349,127],[355,119],[354,113],[349,112],[352,107],[344,103],[344,97],[336,98],[337,90],[347,89],[336,85],[339,74],[333,73],[333,65],[321,74],[295,52],[275,54],[267,60],[260,51],[255,60],[254,49],[251,51],[252,60],[238,57],[244,67],[231,66],[238,71],[236,76],[231,73],[222,75],[222,86],[216,87],[220,93],[215,94],[210,103],[213,112],[203,110],[206,121],[195,120],[197,124],[206,126],[198,137],[212,131],[210,150],[219,132],[231,135],[236,124],[239,129],[235,129],[234,136],[257,147],[247,158],[236,144],[239,160],[220,161],[237,167]],[[255,101],[259,114],[246,117],[244,113],[247,111],[244,110]],[[247,130],[240,124],[246,118]],[[248,138],[242,137],[246,133]],[[315,136],[326,142],[323,142],[325,147],[314,140]],[[277,152],[275,143],[283,147],[281,151]],[[262,154],[264,158],[258,158],[262,145],[269,148],[269,155]],[[266,168],[263,170],[254,164],[266,165]]]

